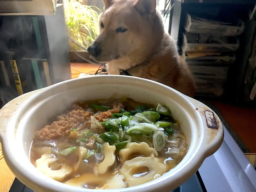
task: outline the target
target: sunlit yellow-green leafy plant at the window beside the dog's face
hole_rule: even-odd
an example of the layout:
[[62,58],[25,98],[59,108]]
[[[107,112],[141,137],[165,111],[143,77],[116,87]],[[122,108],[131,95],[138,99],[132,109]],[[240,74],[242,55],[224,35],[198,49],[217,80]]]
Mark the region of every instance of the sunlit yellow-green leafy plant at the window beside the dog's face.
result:
[[[77,42],[89,47],[98,35],[98,11],[95,6],[82,5],[82,0],[64,0],[65,19],[68,33]],[[83,50],[69,41],[75,50]]]

